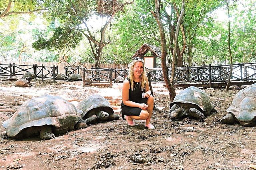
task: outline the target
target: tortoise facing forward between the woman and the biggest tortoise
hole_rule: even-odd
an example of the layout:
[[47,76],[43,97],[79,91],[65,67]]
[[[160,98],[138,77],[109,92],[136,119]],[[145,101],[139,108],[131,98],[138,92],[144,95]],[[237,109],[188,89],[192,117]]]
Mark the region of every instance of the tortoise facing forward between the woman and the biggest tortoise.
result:
[[86,124],[119,120],[119,116],[114,114],[108,100],[100,95],[87,96],[77,108],[83,111],[81,118]]

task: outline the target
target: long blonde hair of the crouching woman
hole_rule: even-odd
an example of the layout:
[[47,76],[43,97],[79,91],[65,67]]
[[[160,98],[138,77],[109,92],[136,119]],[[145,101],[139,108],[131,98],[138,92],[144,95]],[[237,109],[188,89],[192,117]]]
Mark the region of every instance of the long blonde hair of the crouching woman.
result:
[[145,90],[146,89],[146,80],[147,80],[147,73],[146,73],[146,68],[145,68],[145,64],[143,60],[133,60],[129,65],[129,72],[128,72],[128,77],[130,79],[131,82],[131,91],[133,91],[135,83],[134,83],[134,75],[133,75],[133,67],[135,65],[136,62],[142,62],[143,63],[143,71],[142,74],[140,75],[140,88],[141,90]]

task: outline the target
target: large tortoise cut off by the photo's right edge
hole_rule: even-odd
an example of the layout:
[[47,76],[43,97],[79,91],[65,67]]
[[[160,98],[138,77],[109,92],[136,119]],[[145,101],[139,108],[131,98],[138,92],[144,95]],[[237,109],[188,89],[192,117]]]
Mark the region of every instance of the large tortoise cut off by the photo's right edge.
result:
[[229,113],[221,119],[222,123],[256,126],[256,83],[240,90],[226,111]]

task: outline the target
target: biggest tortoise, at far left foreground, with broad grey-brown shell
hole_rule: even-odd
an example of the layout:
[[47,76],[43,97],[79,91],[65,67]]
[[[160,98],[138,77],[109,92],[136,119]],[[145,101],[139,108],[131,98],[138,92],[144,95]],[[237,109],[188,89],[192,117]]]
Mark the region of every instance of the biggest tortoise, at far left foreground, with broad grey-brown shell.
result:
[[45,94],[25,101],[13,117],[3,122],[8,136],[23,138],[40,135],[41,139],[53,139],[75,128],[85,128],[81,110],[59,96]]

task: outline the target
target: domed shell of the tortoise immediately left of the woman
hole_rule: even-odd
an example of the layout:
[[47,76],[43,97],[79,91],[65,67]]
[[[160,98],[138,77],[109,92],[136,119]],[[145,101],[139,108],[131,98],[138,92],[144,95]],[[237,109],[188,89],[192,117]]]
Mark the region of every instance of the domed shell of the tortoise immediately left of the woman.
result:
[[[93,109],[100,108],[101,111],[107,112],[109,115],[114,114],[113,108],[111,108],[107,99],[100,95],[90,95],[83,99],[77,109],[82,110],[82,119],[87,119],[88,117],[94,115],[94,112],[89,112]],[[98,116],[98,115],[97,115]]]

